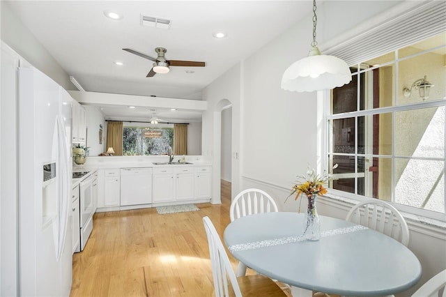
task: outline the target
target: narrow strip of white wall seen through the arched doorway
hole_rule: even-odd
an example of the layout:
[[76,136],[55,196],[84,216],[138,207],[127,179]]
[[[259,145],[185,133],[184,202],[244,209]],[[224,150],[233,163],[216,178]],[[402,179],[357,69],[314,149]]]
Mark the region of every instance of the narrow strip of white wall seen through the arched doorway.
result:
[[232,108],[222,110],[222,179],[231,181]]

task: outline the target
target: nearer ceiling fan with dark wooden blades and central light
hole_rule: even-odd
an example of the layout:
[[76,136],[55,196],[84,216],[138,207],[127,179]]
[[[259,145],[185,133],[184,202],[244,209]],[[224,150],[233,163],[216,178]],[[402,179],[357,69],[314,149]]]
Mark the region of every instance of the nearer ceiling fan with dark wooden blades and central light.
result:
[[156,47],[155,52],[157,53],[156,59],[147,56],[146,54],[142,54],[135,50],[123,49],[125,52],[130,52],[132,54],[136,54],[137,56],[141,56],[144,59],[151,60],[153,63],[152,69],[148,72],[146,77],[153,77],[153,75],[157,73],[168,73],[170,66],[186,66],[186,67],[204,67],[206,66],[205,62],[196,62],[196,61],[180,61],[180,60],[166,60],[164,54],[166,54],[167,50],[164,47]]

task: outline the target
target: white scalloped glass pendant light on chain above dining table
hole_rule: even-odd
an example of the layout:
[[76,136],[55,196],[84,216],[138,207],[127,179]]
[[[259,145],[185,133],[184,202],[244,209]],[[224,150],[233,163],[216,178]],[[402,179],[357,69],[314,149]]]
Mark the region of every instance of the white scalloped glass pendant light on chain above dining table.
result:
[[282,76],[282,89],[298,92],[334,89],[351,82],[351,71],[345,61],[321,54],[316,42],[316,0],[313,1],[313,42],[306,58],[294,62]]

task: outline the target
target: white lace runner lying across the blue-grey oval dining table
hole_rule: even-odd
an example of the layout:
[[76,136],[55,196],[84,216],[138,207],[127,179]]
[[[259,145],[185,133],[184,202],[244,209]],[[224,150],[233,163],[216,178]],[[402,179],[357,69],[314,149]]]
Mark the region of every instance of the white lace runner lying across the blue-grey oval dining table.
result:
[[[346,234],[355,231],[360,231],[368,229],[367,227],[361,225],[355,225],[352,227],[344,227],[338,229],[332,229],[328,231],[322,231],[321,237],[334,236],[337,234]],[[240,252],[241,250],[253,250],[256,248],[270,247],[274,245],[284,245],[286,243],[296,243],[298,241],[305,241],[306,239],[302,235],[298,236],[288,236],[282,238],[268,239],[266,241],[254,241],[253,243],[239,243],[238,245],[229,246],[228,250],[230,252]]]

